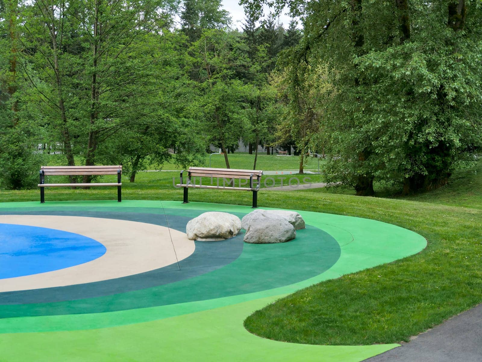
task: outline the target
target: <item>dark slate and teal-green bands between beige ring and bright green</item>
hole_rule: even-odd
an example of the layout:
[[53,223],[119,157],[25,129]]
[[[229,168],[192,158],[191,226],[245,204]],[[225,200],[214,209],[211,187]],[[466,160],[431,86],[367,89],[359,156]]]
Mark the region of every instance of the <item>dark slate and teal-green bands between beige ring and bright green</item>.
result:
[[[152,213],[152,208],[104,208],[104,212],[80,209],[49,208],[42,209],[41,214],[105,217],[185,230],[188,220],[204,212],[165,209],[164,216]],[[0,212],[8,214],[12,210]],[[39,209],[15,213],[35,215]],[[309,225],[298,230],[295,240],[282,244],[244,244],[243,248],[243,235],[241,231],[223,242],[196,242],[196,251],[187,259],[147,273],[75,286],[0,293],[0,318],[101,313],[259,292],[321,274],[340,256],[336,240]],[[288,269],[290,272],[286,273]]]

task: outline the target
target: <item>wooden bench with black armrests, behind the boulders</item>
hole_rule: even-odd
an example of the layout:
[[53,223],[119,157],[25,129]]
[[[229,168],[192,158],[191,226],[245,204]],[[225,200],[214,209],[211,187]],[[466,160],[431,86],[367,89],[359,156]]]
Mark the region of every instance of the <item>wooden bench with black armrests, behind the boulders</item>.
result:
[[[181,183],[178,183],[177,187],[184,187],[183,204],[187,204],[187,190],[189,187],[201,188],[201,189],[219,189],[219,190],[235,190],[235,191],[251,191],[253,192],[253,208],[258,207],[258,191],[259,182],[263,171],[257,170],[239,170],[234,168],[206,168],[206,167],[189,167],[187,170],[187,181],[183,182],[183,173],[181,171]],[[199,182],[191,181],[191,177],[199,177]],[[209,177],[211,179],[216,178],[216,185],[203,185],[202,178]],[[254,178],[256,179],[256,186],[254,186]],[[219,185],[219,179],[223,179],[223,184]],[[234,180],[240,180],[240,187],[235,187]],[[241,180],[249,180],[249,187],[241,187]],[[212,183],[212,181],[211,181]],[[228,186],[226,186],[228,183]],[[246,181],[247,183],[247,181]]]

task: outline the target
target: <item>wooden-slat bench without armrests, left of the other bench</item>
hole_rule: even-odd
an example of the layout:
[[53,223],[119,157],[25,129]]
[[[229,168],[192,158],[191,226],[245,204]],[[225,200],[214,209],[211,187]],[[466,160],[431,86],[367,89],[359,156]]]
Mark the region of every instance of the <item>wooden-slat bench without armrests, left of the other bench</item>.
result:
[[[120,175],[122,174],[122,166],[42,166],[40,167],[40,203],[45,202],[45,187],[72,187],[72,186],[117,186],[117,201],[121,201]],[[83,175],[117,175],[116,182],[103,183],[45,183],[46,175],[66,175],[66,176],[83,176]]]

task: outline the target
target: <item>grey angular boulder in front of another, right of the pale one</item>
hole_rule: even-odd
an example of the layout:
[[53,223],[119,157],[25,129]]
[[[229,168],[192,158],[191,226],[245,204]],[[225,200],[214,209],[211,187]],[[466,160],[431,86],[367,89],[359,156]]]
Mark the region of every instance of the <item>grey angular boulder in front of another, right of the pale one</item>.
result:
[[254,217],[244,235],[246,243],[284,243],[296,237],[295,227],[280,215],[259,210]]

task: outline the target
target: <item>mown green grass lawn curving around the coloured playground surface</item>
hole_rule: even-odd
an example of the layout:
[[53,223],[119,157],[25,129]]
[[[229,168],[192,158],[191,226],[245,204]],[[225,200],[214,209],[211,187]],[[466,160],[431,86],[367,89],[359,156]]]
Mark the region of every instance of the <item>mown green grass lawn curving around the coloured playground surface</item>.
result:
[[[479,162],[476,168],[457,173],[441,190],[404,199],[357,197],[333,190],[261,190],[260,207],[393,223],[426,237],[428,246],[397,262],[298,291],[255,312],[245,321],[246,328],[263,337],[295,343],[393,343],[407,341],[411,335],[481,303],[482,178],[481,172],[475,173],[481,167]],[[134,184],[124,179],[123,198],[181,202],[182,191],[172,186],[173,176],[178,177],[178,173],[143,172]],[[115,200],[116,192],[113,188],[46,191],[46,202],[72,199]],[[191,190],[189,199],[251,204],[250,193],[236,191]],[[0,191],[0,201],[37,200],[36,189]]]

